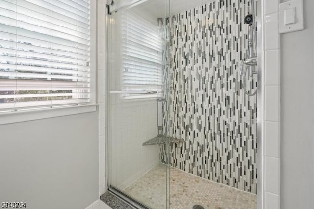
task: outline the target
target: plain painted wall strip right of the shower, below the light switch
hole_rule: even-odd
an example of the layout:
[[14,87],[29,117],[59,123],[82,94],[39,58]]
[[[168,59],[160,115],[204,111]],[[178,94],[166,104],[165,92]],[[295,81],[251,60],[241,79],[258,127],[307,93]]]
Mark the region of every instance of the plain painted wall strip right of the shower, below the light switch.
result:
[[313,13],[304,0],[305,30],[281,35],[282,209],[314,207]]

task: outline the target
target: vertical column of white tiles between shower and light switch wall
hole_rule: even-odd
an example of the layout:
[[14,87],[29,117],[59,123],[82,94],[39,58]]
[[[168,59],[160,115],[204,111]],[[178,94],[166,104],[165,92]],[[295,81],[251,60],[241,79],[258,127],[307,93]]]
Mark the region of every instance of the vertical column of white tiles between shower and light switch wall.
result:
[[280,209],[280,36],[279,0],[264,6],[264,183],[263,208]]

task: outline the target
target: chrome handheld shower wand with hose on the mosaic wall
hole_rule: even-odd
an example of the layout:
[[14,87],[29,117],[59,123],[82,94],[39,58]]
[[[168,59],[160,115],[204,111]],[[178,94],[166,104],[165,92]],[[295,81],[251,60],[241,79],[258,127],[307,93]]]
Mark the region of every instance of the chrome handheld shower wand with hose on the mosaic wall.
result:
[[253,77],[254,74],[257,74],[257,71],[254,70],[257,66],[257,57],[254,56],[254,49],[257,52],[256,44],[256,30],[255,30],[255,12],[254,12],[254,3],[253,0],[250,1],[251,13],[244,18],[244,22],[249,25],[248,32],[248,52],[246,54],[246,59],[241,62],[240,75],[243,78],[243,88],[244,92],[248,96],[254,96],[257,92],[257,89],[253,93],[249,93],[246,89],[246,75],[249,68],[249,76]]

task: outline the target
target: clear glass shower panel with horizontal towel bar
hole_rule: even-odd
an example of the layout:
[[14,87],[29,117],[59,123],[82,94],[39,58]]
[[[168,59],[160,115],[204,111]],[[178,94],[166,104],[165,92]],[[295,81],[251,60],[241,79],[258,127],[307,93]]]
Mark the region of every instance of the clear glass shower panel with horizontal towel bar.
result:
[[142,0],[108,16],[108,186],[154,209],[169,208],[168,11],[169,0]]

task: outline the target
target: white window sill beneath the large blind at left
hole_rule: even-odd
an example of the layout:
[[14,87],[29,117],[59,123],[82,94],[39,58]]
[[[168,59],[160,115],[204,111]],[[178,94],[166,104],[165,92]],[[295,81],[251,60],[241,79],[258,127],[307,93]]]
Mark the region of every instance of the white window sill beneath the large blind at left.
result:
[[0,113],[0,125],[95,112],[98,104]]

